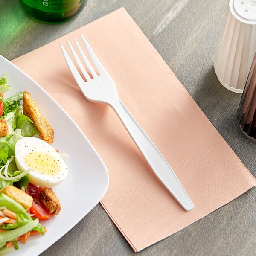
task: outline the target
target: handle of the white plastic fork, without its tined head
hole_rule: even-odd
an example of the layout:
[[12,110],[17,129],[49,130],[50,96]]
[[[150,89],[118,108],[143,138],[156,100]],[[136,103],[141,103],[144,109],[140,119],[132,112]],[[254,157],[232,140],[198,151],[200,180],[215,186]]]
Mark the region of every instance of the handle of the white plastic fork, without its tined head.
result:
[[193,209],[194,205],[178,180],[172,167],[152,143],[147,134],[145,134],[122,101],[118,98],[111,107],[117,113],[128,133],[134,140],[134,143],[140,149],[140,152],[147,160],[149,166],[166,189],[168,189],[184,210],[189,211]]

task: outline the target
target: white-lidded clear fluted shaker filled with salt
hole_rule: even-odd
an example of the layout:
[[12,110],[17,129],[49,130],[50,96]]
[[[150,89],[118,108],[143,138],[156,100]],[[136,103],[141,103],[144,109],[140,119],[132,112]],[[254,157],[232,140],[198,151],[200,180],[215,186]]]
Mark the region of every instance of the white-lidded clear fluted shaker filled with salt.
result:
[[228,90],[242,93],[256,52],[256,0],[230,0],[214,70]]

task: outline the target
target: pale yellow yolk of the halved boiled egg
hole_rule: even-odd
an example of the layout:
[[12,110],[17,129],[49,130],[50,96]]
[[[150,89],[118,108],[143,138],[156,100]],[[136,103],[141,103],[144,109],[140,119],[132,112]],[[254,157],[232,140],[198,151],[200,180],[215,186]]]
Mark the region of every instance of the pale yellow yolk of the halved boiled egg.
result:
[[35,172],[54,176],[61,171],[59,160],[50,154],[33,151],[26,155],[25,163]]

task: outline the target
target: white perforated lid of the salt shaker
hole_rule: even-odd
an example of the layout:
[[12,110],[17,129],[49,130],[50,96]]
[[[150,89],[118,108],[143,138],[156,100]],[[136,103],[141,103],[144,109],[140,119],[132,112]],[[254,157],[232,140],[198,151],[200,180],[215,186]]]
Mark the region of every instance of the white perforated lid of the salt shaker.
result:
[[229,7],[236,19],[247,24],[256,24],[256,0],[230,0]]

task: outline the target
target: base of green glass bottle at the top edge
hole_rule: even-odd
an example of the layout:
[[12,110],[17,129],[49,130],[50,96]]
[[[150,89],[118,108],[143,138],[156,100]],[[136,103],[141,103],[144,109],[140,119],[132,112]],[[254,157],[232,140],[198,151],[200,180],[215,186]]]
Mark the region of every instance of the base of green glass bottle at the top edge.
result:
[[44,23],[62,23],[75,17],[87,0],[21,0],[28,15]]

